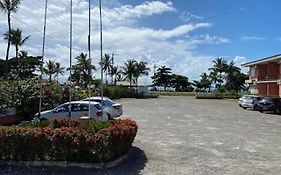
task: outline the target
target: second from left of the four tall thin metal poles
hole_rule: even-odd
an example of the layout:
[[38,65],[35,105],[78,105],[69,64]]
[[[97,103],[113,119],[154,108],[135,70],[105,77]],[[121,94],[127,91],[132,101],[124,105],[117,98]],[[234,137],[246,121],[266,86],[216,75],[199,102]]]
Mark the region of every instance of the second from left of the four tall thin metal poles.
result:
[[72,74],[72,0],[70,0],[70,29],[69,29],[69,118],[71,118],[71,74]]

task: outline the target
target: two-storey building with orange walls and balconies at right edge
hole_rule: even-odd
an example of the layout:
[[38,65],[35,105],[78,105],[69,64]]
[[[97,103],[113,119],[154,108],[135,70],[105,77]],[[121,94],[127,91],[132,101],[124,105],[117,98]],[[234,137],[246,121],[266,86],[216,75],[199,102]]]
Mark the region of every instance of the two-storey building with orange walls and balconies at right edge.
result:
[[249,67],[249,80],[252,94],[281,97],[281,54],[266,57],[246,64]]

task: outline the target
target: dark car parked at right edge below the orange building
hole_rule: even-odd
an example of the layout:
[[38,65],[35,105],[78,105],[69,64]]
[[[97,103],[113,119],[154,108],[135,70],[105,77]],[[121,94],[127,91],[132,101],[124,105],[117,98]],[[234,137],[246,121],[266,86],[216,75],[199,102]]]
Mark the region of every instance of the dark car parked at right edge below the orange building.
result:
[[265,97],[263,100],[258,102],[257,110],[263,111],[273,111],[276,114],[281,113],[281,98]]

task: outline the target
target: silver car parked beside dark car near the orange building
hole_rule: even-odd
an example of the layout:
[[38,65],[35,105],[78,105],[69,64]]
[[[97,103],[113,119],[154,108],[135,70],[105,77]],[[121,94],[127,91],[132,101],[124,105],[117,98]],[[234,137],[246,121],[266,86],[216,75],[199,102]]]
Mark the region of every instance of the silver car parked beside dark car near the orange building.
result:
[[258,102],[263,98],[264,97],[258,95],[244,95],[243,97],[239,98],[238,104],[243,109],[252,108],[256,110]]

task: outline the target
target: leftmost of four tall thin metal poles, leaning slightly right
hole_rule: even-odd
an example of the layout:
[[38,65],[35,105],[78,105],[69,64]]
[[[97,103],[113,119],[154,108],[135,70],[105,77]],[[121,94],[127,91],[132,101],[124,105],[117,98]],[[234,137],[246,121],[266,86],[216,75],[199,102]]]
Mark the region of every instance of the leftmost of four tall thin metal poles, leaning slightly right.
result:
[[43,65],[44,65],[44,56],[45,56],[45,43],[46,43],[46,28],[47,28],[47,12],[48,12],[48,0],[45,1],[45,15],[44,15],[44,32],[43,32],[43,43],[42,43],[42,64],[40,66],[40,98],[39,98],[39,113],[38,118],[41,117],[42,111],[42,80],[43,80]]

